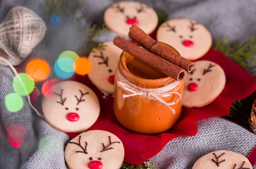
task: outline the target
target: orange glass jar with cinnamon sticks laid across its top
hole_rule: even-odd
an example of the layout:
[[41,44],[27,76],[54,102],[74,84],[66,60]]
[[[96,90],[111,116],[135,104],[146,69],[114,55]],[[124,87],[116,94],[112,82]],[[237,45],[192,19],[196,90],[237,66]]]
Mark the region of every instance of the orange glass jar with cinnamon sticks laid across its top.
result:
[[[169,50],[179,54],[171,46],[159,42]],[[159,89],[167,87],[176,82],[174,79],[167,77],[163,73],[151,68],[144,62],[135,59],[133,56],[122,52],[120,60],[116,69],[115,81],[119,81],[120,77],[126,79],[131,84],[146,89]],[[115,98],[114,98],[114,113],[117,120],[127,129],[134,132],[144,134],[154,134],[166,131],[180,118],[182,107],[182,96],[184,89],[184,79],[172,90],[166,93],[177,92],[181,99],[170,107],[175,110],[175,114],[165,104],[159,101],[148,99],[144,96],[130,96],[124,98],[123,96],[131,92],[116,85],[115,82]],[[160,98],[166,103],[173,102],[179,97],[177,94],[162,94]]]

